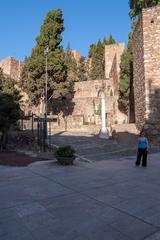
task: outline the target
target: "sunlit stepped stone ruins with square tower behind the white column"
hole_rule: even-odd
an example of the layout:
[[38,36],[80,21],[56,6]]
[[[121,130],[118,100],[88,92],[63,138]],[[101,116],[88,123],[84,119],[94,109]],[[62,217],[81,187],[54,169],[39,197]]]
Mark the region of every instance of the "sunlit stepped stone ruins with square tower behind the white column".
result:
[[[118,109],[120,61],[124,49],[123,43],[106,46],[105,79],[75,82],[72,99],[57,103],[57,105],[66,105],[70,111],[66,114],[68,128],[80,127],[84,123],[101,124],[102,87],[105,89],[106,96],[107,126],[128,122],[128,117]],[[55,112],[55,104],[50,104],[48,109]],[[63,117],[60,117],[60,125],[65,125]]]

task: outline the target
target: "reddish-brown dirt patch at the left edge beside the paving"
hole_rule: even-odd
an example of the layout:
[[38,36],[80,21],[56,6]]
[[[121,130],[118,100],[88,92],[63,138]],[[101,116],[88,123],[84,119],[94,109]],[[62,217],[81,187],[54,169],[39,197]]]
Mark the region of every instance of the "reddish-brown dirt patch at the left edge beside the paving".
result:
[[24,167],[39,160],[21,153],[0,152],[0,165]]

